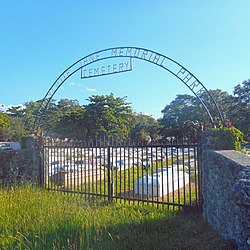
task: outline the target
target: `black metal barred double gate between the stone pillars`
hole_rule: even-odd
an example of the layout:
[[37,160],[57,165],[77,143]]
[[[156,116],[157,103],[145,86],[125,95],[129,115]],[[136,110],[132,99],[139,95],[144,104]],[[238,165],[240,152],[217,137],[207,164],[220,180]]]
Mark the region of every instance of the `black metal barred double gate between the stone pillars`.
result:
[[199,206],[201,161],[189,142],[44,141],[43,180],[49,190],[168,208]]

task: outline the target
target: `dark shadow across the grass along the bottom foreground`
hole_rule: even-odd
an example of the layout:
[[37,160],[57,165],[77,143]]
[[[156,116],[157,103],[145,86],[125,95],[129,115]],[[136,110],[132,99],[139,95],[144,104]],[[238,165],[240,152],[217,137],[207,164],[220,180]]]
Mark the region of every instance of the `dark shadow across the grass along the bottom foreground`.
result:
[[[42,230],[42,229],[41,229]],[[130,221],[112,227],[58,225],[43,238],[27,235],[13,249],[237,249],[222,239],[201,214],[178,212],[166,219]]]

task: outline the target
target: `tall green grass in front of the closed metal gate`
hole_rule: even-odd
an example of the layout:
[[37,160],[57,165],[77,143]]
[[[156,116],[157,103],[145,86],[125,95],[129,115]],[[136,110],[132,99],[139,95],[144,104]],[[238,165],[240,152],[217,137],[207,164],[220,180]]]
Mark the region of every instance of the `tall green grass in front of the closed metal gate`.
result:
[[25,186],[0,190],[0,249],[235,248],[197,214]]

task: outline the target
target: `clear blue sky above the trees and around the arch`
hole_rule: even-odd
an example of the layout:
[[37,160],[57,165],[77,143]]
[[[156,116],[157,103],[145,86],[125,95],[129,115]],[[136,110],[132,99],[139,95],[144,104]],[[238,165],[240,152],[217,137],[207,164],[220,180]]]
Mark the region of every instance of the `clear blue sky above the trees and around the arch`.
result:
[[[136,46],[168,56],[207,89],[230,94],[250,78],[249,0],[1,0],[0,104],[42,99],[71,64],[95,51]],[[177,94],[192,94],[167,71],[134,60],[122,74],[81,79],[54,98],[87,104],[91,95],[127,96],[154,117]]]

